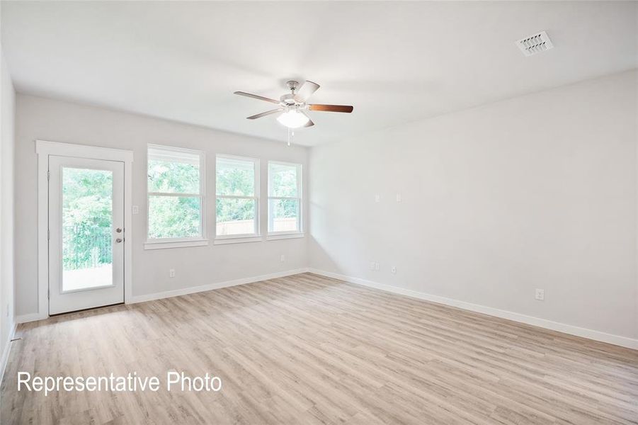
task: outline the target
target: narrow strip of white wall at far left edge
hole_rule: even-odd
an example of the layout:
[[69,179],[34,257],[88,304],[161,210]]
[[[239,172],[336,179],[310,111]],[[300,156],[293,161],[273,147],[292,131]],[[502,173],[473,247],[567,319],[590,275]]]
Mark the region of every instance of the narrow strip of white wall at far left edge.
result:
[[[16,92],[0,50],[0,376],[13,330],[13,125]],[[8,353],[8,351],[7,351]]]

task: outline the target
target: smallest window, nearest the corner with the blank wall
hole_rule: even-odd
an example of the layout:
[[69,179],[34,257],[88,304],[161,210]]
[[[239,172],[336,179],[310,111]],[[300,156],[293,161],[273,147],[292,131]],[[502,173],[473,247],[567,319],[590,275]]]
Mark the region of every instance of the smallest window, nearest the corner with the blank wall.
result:
[[302,231],[301,164],[268,162],[268,233]]

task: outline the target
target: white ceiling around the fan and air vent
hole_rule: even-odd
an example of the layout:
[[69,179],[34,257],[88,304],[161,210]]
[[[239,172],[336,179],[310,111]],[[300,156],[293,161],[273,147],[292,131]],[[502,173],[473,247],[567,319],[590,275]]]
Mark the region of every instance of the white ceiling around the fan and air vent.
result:
[[[18,91],[284,140],[271,104],[321,84],[295,142],[317,145],[632,69],[634,2],[2,2]],[[515,40],[547,30],[555,48]]]

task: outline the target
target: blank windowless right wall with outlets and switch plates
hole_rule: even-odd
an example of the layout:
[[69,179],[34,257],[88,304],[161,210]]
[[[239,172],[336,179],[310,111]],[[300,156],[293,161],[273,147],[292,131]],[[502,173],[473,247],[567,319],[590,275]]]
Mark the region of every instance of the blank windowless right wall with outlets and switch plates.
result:
[[636,102],[625,72],[314,147],[310,265],[635,339]]

